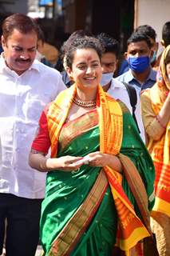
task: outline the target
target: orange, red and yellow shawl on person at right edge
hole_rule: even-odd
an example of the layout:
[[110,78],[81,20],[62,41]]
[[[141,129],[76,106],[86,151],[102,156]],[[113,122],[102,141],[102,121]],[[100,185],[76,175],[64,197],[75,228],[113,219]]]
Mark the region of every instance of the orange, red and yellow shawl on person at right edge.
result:
[[[170,82],[166,77],[164,59],[170,50],[170,46],[164,50],[160,60],[160,70],[157,75],[157,82],[150,89],[152,109],[155,114],[159,114],[164,100],[170,90]],[[148,151],[152,155],[152,160],[156,168],[155,192],[156,202],[153,210],[160,211],[170,217],[170,121],[164,134],[159,141],[149,138]]]

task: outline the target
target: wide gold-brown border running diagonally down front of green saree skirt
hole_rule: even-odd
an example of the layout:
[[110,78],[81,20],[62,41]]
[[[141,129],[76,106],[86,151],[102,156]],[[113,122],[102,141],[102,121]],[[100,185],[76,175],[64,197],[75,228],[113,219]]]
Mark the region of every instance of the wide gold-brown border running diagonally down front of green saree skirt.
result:
[[85,202],[77,209],[76,213],[69,219],[69,222],[54,240],[49,256],[67,256],[70,254],[100,206],[107,187],[108,181],[105,172],[101,170]]

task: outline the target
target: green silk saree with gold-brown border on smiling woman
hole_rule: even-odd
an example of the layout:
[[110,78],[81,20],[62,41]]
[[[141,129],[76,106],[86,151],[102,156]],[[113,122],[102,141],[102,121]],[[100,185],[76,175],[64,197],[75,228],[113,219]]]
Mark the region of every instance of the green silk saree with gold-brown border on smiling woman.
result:
[[[124,137],[121,153],[137,166],[147,190],[148,208],[151,210],[154,203],[150,186],[154,178],[152,160],[137,134],[131,115],[123,106],[122,110]],[[57,157],[83,157],[99,150],[97,111],[89,111],[65,123],[61,129],[58,149]],[[119,178],[129,202],[140,218],[139,208],[125,176]],[[47,174],[40,232],[45,255],[112,255],[113,246],[117,243],[117,219],[115,202],[101,167],[84,165],[77,172],[56,170]],[[125,225],[129,223],[132,225],[132,219],[127,219]]]

